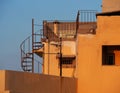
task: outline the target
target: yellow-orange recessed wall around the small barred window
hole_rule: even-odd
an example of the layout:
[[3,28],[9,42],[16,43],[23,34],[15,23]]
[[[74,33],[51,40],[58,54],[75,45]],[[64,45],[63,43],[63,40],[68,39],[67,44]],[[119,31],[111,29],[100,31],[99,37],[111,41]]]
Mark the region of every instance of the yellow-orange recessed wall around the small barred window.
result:
[[[59,45],[55,45],[55,42],[51,42],[48,44],[44,44],[44,70],[43,74],[49,74],[49,75],[60,75],[60,65],[59,65],[59,58],[57,57],[58,53],[60,53],[60,47]],[[76,49],[75,49],[75,41],[64,41],[62,42],[62,54],[63,56],[71,56],[75,55]],[[75,68],[63,68],[62,69],[62,75],[65,77],[73,77],[74,76],[74,70]]]

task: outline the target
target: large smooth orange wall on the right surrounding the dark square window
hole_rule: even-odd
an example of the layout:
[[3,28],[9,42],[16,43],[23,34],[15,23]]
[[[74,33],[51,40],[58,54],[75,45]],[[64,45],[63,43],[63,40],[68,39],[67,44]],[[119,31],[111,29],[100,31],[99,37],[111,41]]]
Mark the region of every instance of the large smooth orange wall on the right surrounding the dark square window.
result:
[[102,45],[120,45],[120,17],[97,19],[96,35],[77,38],[78,93],[120,93],[120,65],[102,65]]

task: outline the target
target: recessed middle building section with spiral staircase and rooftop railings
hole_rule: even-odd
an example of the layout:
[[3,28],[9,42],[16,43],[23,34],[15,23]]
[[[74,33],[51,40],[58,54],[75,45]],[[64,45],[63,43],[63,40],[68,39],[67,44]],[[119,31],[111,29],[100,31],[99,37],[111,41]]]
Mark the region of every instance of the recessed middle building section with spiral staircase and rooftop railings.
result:
[[[43,58],[44,74],[51,73],[59,76],[60,73],[68,73],[69,69],[72,70],[70,71],[71,74],[64,74],[63,76],[71,77],[76,68],[77,35],[96,33],[96,11],[78,11],[75,21],[43,21],[43,29],[39,30],[38,33],[34,29],[35,24],[32,20],[31,40],[28,37],[21,44],[23,70],[34,72],[35,53]],[[53,62],[56,63],[56,66],[52,65]],[[52,71],[55,68],[57,72]],[[61,72],[61,69],[64,71]]]

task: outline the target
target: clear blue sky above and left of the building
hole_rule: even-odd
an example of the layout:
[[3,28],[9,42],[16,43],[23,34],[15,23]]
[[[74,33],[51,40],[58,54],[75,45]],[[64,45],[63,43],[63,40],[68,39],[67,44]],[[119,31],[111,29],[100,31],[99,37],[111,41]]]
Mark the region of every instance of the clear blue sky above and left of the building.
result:
[[21,70],[20,44],[31,20],[75,20],[78,10],[101,11],[102,0],[0,0],[0,69]]

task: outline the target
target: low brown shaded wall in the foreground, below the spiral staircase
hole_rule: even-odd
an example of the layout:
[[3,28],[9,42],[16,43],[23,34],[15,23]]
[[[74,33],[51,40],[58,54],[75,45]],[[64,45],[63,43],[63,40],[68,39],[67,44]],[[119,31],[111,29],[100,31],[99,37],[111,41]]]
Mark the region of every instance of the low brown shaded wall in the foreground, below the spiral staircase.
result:
[[[76,93],[76,79],[17,71],[4,71],[0,93]],[[0,76],[0,77],[1,77]],[[1,89],[4,87],[4,89]],[[8,90],[8,91],[6,91]],[[6,92],[4,92],[6,91]]]

